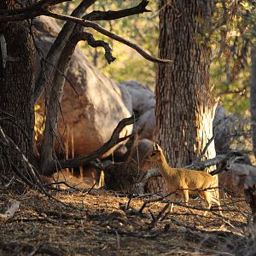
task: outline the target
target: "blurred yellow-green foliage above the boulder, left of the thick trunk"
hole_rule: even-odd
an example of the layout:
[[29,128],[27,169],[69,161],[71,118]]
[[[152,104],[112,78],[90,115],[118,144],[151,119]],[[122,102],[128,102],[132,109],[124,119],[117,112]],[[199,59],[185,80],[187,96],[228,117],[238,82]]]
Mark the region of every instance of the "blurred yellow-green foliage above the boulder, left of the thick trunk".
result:
[[[104,28],[129,39],[148,50],[151,55],[157,56],[158,51],[158,9],[157,1],[150,1],[148,8],[152,12],[142,15],[132,15],[119,20],[100,21]],[[97,1],[93,10],[118,10],[136,6],[140,1]],[[91,9],[92,10],[92,9]],[[92,32],[92,31],[90,31]],[[115,81],[137,80],[154,89],[155,65],[146,61],[133,49],[119,44],[109,38],[94,32],[96,39],[108,42],[113,49],[113,56],[117,58],[108,65],[104,58],[103,49],[92,49],[83,44],[84,53],[89,57],[102,73]]]

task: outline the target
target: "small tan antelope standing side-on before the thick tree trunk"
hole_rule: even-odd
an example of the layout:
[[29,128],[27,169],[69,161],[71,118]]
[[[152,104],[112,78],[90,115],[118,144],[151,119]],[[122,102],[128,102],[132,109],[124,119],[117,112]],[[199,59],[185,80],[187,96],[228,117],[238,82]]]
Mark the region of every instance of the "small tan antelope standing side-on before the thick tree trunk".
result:
[[220,202],[213,195],[213,188],[217,188],[218,183],[211,174],[195,170],[172,168],[168,165],[163,150],[157,143],[154,144],[154,151],[150,155],[149,160],[158,164],[167,188],[170,192],[182,194],[186,205],[189,204],[189,194],[199,194],[207,201],[208,209],[212,207],[212,202],[215,202],[218,205],[219,213],[222,213]]

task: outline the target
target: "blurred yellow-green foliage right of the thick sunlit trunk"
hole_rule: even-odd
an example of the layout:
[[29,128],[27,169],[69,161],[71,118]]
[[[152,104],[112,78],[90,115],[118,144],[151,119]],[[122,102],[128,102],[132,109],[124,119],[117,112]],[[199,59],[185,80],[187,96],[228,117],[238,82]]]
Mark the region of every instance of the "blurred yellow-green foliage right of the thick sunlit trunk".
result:
[[213,11],[211,82],[224,108],[241,116],[249,108],[255,8],[253,1],[228,0],[217,1]]

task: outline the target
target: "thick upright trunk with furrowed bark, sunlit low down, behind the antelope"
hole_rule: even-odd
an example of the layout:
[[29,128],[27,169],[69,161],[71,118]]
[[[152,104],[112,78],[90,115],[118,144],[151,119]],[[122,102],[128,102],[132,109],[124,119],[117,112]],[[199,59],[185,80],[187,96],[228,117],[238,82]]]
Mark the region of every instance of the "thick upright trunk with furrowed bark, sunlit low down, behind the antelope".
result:
[[[212,1],[160,0],[159,55],[156,82],[158,142],[172,166],[186,166],[212,137],[216,101],[209,84]],[[214,144],[208,148],[215,155]]]

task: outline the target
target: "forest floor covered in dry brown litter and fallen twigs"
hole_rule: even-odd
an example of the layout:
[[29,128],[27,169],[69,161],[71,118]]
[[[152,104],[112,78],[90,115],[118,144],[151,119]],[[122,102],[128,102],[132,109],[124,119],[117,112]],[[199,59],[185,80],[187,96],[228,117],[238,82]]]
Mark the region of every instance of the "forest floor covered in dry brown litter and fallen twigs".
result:
[[222,200],[223,217],[182,206],[164,212],[161,201],[139,214],[145,198],[133,198],[125,210],[129,199],[104,189],[55,192],[55,198],[69,207],[32,190],[0,189],[0,210],[20,202],[13,218],[0,220],[1,255],[253,255],[250,209],[241,198]]

